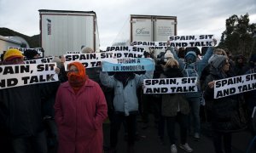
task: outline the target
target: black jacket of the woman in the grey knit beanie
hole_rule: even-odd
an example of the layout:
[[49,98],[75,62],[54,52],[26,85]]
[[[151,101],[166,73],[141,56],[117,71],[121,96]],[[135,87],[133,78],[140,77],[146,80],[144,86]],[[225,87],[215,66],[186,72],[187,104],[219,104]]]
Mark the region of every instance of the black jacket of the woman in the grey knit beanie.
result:
[[213,67],[206,79],[204,98],[206,100],[207,119],[212,123],[212,130],[230,133],[239,131],[247,126],[245,103],[241,94],[234,94],[220,99],[213,99],[213,88],[207,86],[213,80],[232,77],[230,74],[221,75]]

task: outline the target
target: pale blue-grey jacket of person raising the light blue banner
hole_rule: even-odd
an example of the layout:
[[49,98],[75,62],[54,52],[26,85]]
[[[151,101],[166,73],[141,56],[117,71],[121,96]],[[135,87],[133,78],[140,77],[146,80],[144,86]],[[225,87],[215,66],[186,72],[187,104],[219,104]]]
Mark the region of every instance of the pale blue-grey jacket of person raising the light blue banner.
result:
[[113,107],[114,111],[125,113],[129,116],[131,112],[138,111],[137,88],[143,84],[143,79],[152,79],[154,71],[146,71],[144,75],[135,75],[123,86],[122,82],[113,76],[108,76],[108,72],[100,72],[100,79],[104,86],[114,88]]

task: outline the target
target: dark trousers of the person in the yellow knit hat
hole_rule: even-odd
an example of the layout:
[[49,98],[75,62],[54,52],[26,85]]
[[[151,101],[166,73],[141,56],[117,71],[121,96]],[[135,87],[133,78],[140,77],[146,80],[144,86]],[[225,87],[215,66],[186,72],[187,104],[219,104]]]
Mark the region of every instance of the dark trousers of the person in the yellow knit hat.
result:
[[38,133],[35,136],[14,138],[12,146],[15,153],[47,153],[47,142],[45,132]]

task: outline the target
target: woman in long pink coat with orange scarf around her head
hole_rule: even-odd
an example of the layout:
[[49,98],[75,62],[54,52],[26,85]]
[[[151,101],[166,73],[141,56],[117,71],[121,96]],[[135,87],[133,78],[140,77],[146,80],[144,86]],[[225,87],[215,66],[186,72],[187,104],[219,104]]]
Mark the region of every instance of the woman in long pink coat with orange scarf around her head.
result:
[[102,153],[102,122],[108,107],[100,86],[90,80],[79,62],[68,65],[68,82],[55,100],[59,153]]

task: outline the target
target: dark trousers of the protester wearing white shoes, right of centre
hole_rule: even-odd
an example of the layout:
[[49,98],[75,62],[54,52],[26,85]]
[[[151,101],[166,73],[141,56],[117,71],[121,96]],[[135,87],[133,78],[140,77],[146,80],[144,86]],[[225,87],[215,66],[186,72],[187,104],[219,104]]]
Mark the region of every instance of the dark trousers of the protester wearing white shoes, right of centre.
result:
[[184,115],[180,112],[177,116],[166,116],[167,132],[171,144],[176,144],[175,137],[175,122],[179,123],[180,127],[180,141],[181,144],[187,143],[187,131],[188,131],[188,115]]

